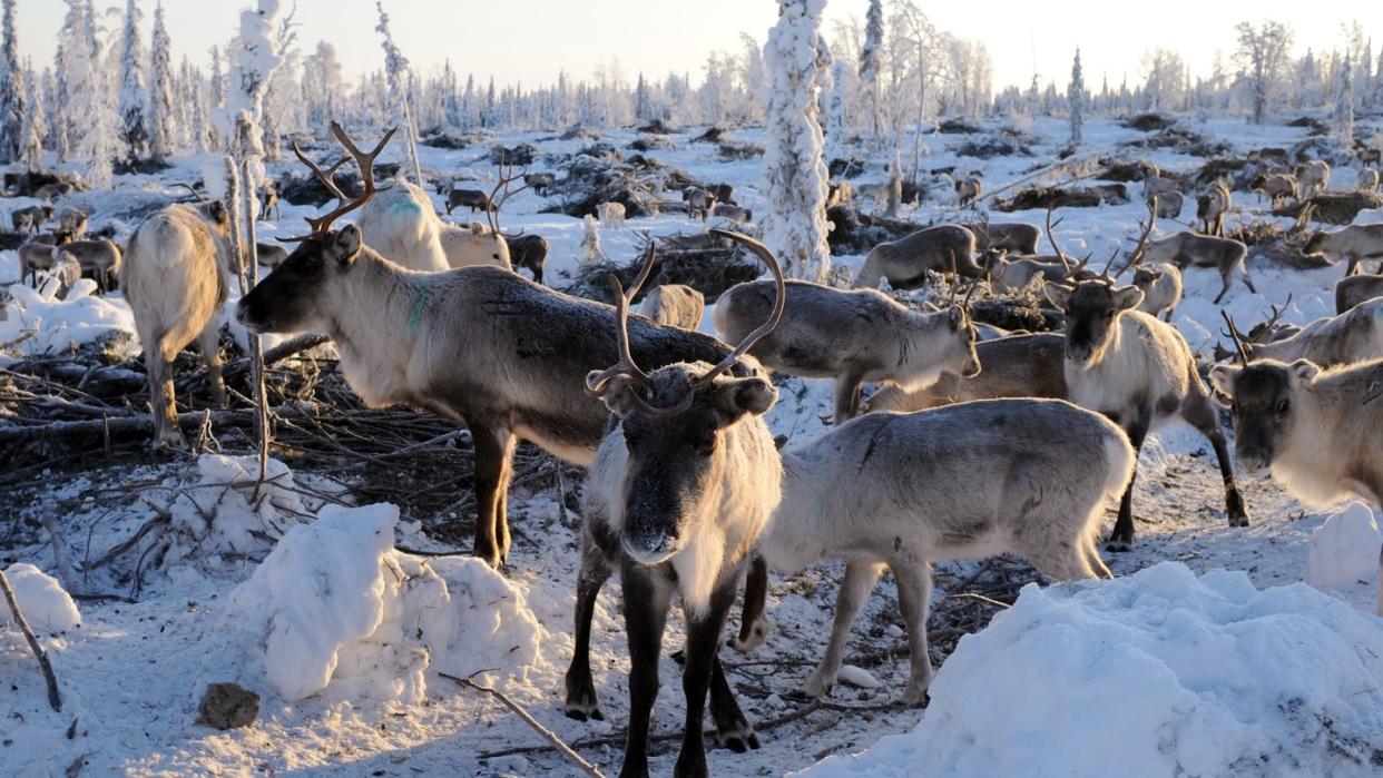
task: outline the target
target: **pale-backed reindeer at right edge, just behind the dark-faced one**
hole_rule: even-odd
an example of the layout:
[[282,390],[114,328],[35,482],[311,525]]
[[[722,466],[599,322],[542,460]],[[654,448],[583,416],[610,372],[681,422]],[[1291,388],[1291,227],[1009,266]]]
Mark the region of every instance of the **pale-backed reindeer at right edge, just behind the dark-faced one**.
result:
[[[1275,312],[1274,319],[1281,315]],[[1236,340],[1238,330],[1229,325]],[[1383,298],[1365,300],[1336,316],[1317,319],[1300,332],[1271,343],[1243,343],[1252,359],[1310,359],[1321,368],[1383,357]]]

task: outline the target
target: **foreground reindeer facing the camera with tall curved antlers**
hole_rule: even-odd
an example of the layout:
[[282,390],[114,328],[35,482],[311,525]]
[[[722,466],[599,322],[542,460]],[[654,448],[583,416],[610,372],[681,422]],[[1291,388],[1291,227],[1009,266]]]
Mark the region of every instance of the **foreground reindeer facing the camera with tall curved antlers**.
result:
[[674,591],[687,619],[686,721],[675,774],[707,774],[708,694],[721,745],[737,752],[759,745],[716,652],[736,586],[780,497],[781,466],[762,419],[777,391],[762,376],[726,373],[777,325],[784,289],[768,249],[737,239],[763,258],[776,279],[777,301],[765,322],[714,366],[680,362],[644,372],[631,347],[628,307],[653,267],[650,256],[633,293],[625,294],[611,276],[620,359],[586,379],[614,421],[586,482],[566,713],[603,717],[591,679],[591,616],[602,585],[618,569],[631,665],[622,775],[649,774],[649,727]]

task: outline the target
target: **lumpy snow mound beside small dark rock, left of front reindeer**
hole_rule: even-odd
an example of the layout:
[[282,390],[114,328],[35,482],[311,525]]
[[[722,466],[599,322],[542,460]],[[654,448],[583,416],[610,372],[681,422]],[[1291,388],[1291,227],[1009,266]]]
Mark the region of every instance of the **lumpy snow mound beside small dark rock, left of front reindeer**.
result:
[[[546,637],[523,594],[469,558],[393,550],[398,509],[328,506],[231,593],[252,676],[279,696],[420,703],[430,666],[527,677]],[[254,679],[250,677],[253,683]]]

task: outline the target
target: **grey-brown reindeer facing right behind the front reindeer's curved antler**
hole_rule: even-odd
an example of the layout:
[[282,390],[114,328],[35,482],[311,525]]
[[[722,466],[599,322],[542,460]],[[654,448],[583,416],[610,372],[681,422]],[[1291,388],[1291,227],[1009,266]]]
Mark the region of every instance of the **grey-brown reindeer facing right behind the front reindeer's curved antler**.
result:
[[[725,292],[715,304],[716,332],[727,340],[741,339],[774,304],[770,289],[766,282],[750,282]],[[916,391],[936,383],[946,370],[967,377],[981,372],[978,333],[965,304],[921,314],[874,289],[791,281],[783,319],[752,354],[773,370],[835,379],[835,424],[859,412],[866,381]]]

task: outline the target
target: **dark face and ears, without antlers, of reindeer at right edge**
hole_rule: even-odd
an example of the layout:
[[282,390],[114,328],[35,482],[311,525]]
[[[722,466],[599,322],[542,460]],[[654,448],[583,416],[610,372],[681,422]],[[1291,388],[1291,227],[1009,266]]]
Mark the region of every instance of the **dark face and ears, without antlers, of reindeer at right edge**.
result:
[[1243,471],[1261,473],[1272,464],[1292,434],[1293,395],[1319,372],[1307,359],[1290,365],[1264,359],[1210,369],[1216,395],[1227,399],[1234,413],[1234,455]]

